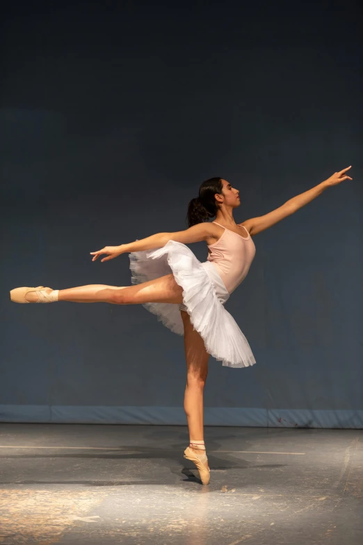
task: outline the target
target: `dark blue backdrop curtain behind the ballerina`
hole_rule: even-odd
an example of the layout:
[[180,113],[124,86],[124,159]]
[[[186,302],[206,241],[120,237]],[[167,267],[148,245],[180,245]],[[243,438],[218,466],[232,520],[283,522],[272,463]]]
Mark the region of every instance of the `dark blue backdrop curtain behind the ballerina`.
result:
[[4,23],[0,420],[186,424],[183,339],[142,306],[8,291],[130,284],[127,254],[89,252],[185,229],[211,176],[243,222],[352,164],[254,238],[226,308],[257,364],[211,358],[204,404],[206,424],[362,427],[359,4],[17,3]]

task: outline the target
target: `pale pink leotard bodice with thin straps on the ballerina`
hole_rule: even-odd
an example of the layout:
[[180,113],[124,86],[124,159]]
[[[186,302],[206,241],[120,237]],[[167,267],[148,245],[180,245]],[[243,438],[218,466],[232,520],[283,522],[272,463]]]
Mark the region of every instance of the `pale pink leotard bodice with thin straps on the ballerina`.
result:
[[[217,222],[212,223],[220,225]],[[207,261],[213,263],[228,293],[232,293],[247,276],[255,257],[256,247],[245,227],[241,226],[248,234],[247,238],[223,225],[220,227],[223,227],[225,232],[216,243],[208,245]]]

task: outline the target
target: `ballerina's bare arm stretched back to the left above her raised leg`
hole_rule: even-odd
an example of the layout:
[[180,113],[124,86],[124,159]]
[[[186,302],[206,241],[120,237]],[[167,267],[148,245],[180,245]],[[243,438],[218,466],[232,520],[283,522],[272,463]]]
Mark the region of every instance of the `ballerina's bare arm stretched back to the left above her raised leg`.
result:
[[206,240],[210,236],[217,236],[218,238],[218,232],[216,233],[215,226],[209,222],[198,223],[197,225],[189,227],[189,229],[184,229],[184,231],[176,231],[175,233],[156,233],[147,238],[135,240],[133,243],[122,244],[120,246],[105,246],[102,250],[98,250],[98,252],[91,252],[91,255],[93,256],[92,261],[96,261],[102,254],[108,254],[108,256],[101,259],[101,261],[109,261],[120,254],[161,248],[165,246],[169,240],[175,240],[175,242],[183,244],[191,244],[200,242],[200,240]]

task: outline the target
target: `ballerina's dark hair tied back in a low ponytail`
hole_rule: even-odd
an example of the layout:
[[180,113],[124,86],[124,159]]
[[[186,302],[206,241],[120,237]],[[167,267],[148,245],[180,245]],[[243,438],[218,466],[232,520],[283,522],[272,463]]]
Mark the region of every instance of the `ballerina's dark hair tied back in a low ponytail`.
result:
[[218,205],[214,195],[222,193],[222,178],[209,178],[199,188],[199,196],[191,199],[188,204],[186,220],[188,227],[197,223],[207,222],[209,217],[217,215]]

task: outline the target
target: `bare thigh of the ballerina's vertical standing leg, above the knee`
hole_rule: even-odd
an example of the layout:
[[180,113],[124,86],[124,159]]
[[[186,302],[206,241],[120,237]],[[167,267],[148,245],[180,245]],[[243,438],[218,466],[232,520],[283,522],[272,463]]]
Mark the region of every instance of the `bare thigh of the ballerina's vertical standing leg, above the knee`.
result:
[[186,369],[189,376],[205,381],[208,374],[209,353],[200,334],[193,328],[188,312],[180,311],[184,324]]

